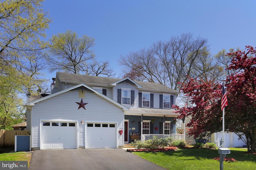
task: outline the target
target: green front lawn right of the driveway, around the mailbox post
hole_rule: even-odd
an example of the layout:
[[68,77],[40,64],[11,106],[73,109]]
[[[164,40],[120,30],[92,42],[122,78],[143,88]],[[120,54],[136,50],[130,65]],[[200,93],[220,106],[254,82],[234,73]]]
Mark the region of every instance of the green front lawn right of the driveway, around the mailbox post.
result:
[[[256,167],[256,154],[244,153],[246,149],[229,148],[231,154],[227,157],[237,160],[236,162],[224,162],[224,169],[254,170]],[[220,162],[212,160],[219,157],[217,149],[179,149],[170,152],[133,152],[150,162],[166,169],[219,169]]]

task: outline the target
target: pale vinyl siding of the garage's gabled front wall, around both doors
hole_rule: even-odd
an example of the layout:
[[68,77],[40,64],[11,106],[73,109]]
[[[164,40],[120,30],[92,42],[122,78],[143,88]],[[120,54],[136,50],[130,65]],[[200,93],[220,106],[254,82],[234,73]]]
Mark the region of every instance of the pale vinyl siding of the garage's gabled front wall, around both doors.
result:
[[[78,90],[73,90],[35,103],[35,106],[32,107],[32,147],[40,147],[40,120],[78,121],[79,147],[85,147],[85,124],[80,123],[82,120],[114,121],[118,122],[117,129],[123,129],[124,114],[122,108],[89,91],[86,91],[86,98],[83,99],[84,103],[88,103],[85,105],[86,110],[83,108],[78,110],[79,105],[76,102],[80,101]],[[123,146],[123,135],[118,135],[118,146]]]

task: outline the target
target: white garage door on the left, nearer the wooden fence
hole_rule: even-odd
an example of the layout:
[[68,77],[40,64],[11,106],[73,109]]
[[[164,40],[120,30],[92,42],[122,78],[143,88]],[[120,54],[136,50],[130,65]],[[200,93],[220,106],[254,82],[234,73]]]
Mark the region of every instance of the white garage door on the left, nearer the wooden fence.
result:
[[77,148],[76,122],[42,122],[42,149]]

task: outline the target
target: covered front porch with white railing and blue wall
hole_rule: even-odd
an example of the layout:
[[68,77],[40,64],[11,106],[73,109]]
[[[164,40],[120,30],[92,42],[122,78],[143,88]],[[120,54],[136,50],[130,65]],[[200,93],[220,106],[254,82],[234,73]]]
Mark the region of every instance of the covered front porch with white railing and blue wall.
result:
[[149,108],[125,111],[124,143],[131,143],[134,139],[145,141],[152,139],[153,136],[184,140],[184,134],[176,134],[175,118],[179,114],[173,111],[173,109]]

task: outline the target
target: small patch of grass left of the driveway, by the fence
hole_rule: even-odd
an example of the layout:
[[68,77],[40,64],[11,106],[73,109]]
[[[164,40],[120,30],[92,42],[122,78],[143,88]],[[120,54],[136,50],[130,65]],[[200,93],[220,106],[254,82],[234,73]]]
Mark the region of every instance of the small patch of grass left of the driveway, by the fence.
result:
[[32,156],[32,153],[26,152],[16,152],[16,153],[8,153],[14,150],[14,148],[1,148],[0,149],[0,161],[28,161],[29,162]]

